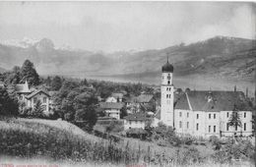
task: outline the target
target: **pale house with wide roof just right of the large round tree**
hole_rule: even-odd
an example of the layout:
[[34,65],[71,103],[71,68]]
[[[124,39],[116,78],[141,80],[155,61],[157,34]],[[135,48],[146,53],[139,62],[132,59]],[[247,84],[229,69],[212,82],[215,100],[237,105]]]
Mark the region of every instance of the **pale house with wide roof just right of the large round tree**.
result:
[[124,104],[120,102],[99,102],[99,108],[103,110],[105,116],[112,117],[117,120],[120,119],[120,113],[123,105]]

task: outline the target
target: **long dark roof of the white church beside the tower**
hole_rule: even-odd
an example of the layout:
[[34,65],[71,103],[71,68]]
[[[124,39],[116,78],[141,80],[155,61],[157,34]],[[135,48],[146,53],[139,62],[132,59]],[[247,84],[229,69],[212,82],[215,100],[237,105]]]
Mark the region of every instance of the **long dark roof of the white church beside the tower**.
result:
[[187,91],[177,99],[175,109],[194,111],[232,111],[234,106],[241,111],[252,111],[242,91]]

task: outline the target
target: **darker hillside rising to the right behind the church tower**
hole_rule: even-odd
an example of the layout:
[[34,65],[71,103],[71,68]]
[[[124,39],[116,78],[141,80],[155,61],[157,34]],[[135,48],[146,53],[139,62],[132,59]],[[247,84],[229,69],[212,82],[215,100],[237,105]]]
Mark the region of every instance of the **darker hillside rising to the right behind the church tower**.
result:
[[[246,78],[252,81],[256,45],[249,39],[216,36],[189,45],[177,45],[123,57],[119,63],[128,76],[159,75],[160,67],[169,57],[177,77],[190,75],[220,75]],[[142,75],[143,76],[143,75]]]

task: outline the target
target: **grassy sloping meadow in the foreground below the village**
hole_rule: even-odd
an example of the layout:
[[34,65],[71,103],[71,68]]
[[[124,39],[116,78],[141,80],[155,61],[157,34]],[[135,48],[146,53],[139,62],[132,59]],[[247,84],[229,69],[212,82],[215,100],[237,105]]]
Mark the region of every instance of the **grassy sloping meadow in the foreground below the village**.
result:
[[[1,163],[9,157],[11,162],[46,160],[61,166],[221,165],[209,158],[214,153],[211,145],[163,147],[153,142],[125,138],[116,143],[97,138],[66,121],[5,118],[0,119],[0,134]],[[250,166],[252,163],[238,164]]]

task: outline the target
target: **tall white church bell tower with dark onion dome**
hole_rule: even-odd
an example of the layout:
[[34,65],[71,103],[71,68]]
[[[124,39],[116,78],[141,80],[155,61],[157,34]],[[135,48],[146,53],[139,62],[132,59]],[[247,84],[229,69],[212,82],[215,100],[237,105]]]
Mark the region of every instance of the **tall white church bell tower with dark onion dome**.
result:
[[173,125],[173,101],[174,86],[172,84],[173,66],[169,64],[168,59],[165,65],[161,67],[161,86],[160,86],[160,121],[166,126]]

